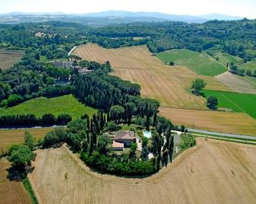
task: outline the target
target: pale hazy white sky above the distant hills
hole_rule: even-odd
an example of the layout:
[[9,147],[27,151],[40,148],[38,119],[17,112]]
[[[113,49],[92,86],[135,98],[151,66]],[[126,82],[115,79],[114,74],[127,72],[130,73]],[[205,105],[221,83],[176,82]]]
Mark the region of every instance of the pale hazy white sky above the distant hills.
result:
[[230,14],[256,18],[256,0],[0,0],[0,13],[157,11],[167,14]]

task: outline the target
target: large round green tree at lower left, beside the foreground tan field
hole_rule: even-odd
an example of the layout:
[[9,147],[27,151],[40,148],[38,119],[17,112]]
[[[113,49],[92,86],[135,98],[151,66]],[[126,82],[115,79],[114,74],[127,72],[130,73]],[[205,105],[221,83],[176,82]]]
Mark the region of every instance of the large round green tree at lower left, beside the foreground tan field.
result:
[[34,160],[35,155],[28,146],[21,145],[17,150],[11,152],[11,167],[14,167],[20,171],[24,170],[24,167],[30,166],[31,161]]

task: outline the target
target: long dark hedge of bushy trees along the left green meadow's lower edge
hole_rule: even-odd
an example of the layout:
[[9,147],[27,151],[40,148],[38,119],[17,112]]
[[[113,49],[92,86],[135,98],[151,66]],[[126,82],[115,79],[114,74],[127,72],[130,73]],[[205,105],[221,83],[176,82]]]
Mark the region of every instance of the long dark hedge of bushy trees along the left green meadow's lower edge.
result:
[[34,114],[0,116],[0,126],[53,126],[66,125],[72,120],[69,114],[62,113],[55,117],[51,113],[45,113],[42,117]]

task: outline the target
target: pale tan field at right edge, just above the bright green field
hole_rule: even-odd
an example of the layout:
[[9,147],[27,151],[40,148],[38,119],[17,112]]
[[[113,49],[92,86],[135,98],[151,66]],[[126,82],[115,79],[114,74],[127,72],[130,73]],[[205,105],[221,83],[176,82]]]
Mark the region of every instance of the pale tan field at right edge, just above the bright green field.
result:
[[248,76],[242,77],[230,72],[225,72],[221,75],[215,76],[215,78],[231,88],[232,91],[256,94],[256,78]]

